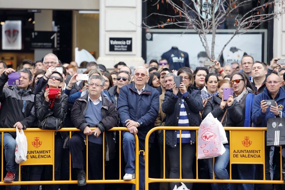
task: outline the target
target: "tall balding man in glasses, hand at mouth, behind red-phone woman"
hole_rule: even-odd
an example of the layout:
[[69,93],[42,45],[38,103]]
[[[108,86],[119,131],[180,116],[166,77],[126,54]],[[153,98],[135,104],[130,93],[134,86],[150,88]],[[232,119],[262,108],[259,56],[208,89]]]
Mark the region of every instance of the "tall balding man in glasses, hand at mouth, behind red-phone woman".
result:
[[46,56],[44,56],[43,65],[44,65],[44,71],[46,73],[36,83],[34,91],[35,94],[39,93],[42,90],[42,88],[46,86],[46,84],[48,83],[48,78],[50,77],[52,72],[56,71],[56,67],[59,66],[57,56],[54,55],[53,53],[47,54]]

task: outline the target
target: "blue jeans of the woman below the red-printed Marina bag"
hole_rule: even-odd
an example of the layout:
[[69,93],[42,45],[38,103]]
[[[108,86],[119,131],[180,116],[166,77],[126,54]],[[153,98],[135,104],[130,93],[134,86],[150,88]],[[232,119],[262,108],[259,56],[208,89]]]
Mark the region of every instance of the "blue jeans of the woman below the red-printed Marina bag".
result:
[[[224,147],[226,149],[225,153],[221,156],[215,157],[215,179],[229,179],[229,173],[227,171],[227,165],[230,160],[229,144],[224,144]],[[207,160],[210,178],[213,179],[213,158],[208,158]],[[211,186],[213,190],[230,190],[229,183],[211,183]]]

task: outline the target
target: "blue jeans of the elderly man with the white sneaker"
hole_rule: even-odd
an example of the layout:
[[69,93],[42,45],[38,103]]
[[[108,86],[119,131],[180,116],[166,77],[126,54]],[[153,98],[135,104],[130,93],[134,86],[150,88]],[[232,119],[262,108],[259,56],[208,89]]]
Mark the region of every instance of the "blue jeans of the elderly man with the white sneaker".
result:
[[[129,131],[123,131],[123,150],[125,155],[125,173],[135,173],[135,136]],[[144,140],[139,139],[139,150],[144,150]],[[148,145],[148,150],[151,144]],[[135,185],[132,187],[135,190]],[[139,155],[139,189],[144,190],[144,156]]]

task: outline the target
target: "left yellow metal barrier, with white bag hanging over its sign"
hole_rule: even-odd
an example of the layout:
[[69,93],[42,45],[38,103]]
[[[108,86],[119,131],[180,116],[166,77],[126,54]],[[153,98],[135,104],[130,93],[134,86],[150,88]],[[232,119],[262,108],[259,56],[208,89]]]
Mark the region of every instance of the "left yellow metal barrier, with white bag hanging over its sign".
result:
[[[91,130],[94,130],[95,128],[91,128]],[[62,128],[58,130],[60,131],[69,131],[70,132],[70,137],[71,137],[71,132],[72,131],[80,131],[77,128]],[[135,179],[132,180],[123,180],[121,179],[121,131],[129,131],[126,127],[113,127],[109,131],[119,131],[119,179],[105,179],[105,132],[103,133],[103,179],[101,180],[89,180],[88,179],[88,148],[86,148],[86,182],[87,183],[132,183],[132,184],[137,184],[136,185],[136,190],[139,189],[139,139],[137,135],[135,135]],[[2,132],[2,136],[4,132],[16,132],[16,129],[13,128],[0,128],[0,132]],[[27,136],[29,132],[41,132],[41,133],[47,133],[47,132],[52,132],[53,134],[53,141],[54,142],[54,131],[52,130],[43,130],[40,128],[27,128],[24,130],[25,135]],[[29,143],[29,142],[28,142]],[[86,138],[86,147],[88,146],[88,136]],[[63,180],[63,181],[55,181],[54,180],[54,144],[52,147],[52,159],[53,163],[49,164],[25,164],[25,162],[19,164],[19,181],[14,181],[12,183],[5,183],[3,182],[3,157],[4,157],[4,152],[3,152],[3,138],[2,138],[2,146],[1,146],[1,182],[0,185],[45,185],[45,184],[77,184],[77,180],[71,180],[71,155],[69,155],[70,158],[70,169],[69,169],[69,180]],[[28,150],[29,151],[29,150]],[[52,181],[21,181],[21,166],[25,165],[52,165],[53,166],[53,176],[52,176]]]

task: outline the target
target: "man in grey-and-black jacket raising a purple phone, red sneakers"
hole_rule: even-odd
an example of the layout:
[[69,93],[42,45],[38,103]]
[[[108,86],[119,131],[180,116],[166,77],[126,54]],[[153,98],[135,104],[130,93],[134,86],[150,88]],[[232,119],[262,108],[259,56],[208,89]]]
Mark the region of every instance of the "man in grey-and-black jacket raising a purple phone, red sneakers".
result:
[[[5,70],[0,77],[0,127],[27,128],[34,124],[34,93],[30,88],[32,73],[24,68],[21,73],[20,85],[4,87],[8,81],[8,74],[15,72],[12,68]],[[0,143],[2,136],[0,135]],[[15,162],[16,132],[5,132],[3,147],[5,149],[7,175],[4,182],[13,182],[19,168]],[[18,173],[18,172],[17,172]],[[18,178],[18,176],[16,176]],[[17,179],[16,179],[17,180]],[[20,189],[20,185],[17,186]],[[16,187],[16,188],[17,188]]]

